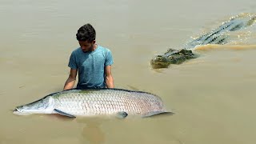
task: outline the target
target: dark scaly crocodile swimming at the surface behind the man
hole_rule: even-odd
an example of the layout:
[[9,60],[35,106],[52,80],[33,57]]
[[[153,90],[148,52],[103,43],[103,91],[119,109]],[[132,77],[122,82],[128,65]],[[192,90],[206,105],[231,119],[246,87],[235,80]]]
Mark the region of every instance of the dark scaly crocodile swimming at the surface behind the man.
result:
[[154,69],[167,68],[170,64],[181,64],[188,59],[198,58],[199,55],[193,53],[197,46],[207,44],[224,45],[229,42],[229,32],[242,30],[247,26],[253,25],[255,21],[255,14],[239,14],[231,17],[218,28],[187,42],[182,49],[169,49],[165,54],[154,56],[154,58],[150,60],[150,65]]

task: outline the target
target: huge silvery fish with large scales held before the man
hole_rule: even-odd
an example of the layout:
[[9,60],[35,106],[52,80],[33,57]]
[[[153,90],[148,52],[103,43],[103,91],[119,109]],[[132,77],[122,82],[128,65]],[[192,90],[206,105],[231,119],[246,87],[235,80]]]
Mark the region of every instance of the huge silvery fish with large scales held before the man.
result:
[[121,118],[128,114],[148,117],[162,113],[169,112],[158,96],[122,89],[64,90],[14,110],[14,114],[62,114],[70,118],[101,114],[117,114]]

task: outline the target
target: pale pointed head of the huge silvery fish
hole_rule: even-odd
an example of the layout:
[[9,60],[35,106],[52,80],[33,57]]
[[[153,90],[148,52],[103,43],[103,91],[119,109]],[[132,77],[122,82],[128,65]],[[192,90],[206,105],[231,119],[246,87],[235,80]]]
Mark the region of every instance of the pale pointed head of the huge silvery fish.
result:
[[26,105],[17,106],[14,114],[50,114],[53,110],[54,98],[48,96]]

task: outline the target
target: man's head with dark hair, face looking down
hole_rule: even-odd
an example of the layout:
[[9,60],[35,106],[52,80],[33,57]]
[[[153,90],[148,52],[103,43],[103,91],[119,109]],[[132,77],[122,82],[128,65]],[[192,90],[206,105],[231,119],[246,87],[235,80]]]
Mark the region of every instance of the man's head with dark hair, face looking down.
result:
[[94,50],[96,32],[90,23],[80,27],[76,36],[83,52]]

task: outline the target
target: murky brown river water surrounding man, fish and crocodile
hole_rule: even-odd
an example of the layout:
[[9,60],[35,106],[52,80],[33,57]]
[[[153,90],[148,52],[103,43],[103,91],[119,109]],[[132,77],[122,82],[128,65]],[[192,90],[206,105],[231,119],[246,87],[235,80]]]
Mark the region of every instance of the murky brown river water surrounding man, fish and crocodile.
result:
[[[150,67],[155,54],[241,13],[256,14],[256,2],[0,0],[0,143],[254,143],[255,25],[231,35],[239,38],[228,45],[199,47],[199,58]],[[12,113],[62,90],[78,47],[75,34],[87,22],[98,45],[112,51],[115,86],[158,94],[174,115],[120,120]]]

